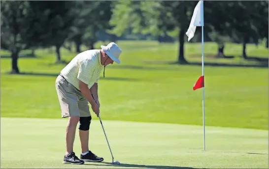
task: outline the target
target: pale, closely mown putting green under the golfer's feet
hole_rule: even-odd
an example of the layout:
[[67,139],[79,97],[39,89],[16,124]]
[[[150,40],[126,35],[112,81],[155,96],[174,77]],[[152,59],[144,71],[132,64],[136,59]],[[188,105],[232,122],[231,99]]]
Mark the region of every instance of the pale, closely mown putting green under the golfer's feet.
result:
[[[63,165],[67,119],[1,118],[1,168],[268,168],[268,131],[103,120],[115,160]],[[90,149],[105,162],[110,152],[98,120]],[[80,153],[78,132],[74,151]]]

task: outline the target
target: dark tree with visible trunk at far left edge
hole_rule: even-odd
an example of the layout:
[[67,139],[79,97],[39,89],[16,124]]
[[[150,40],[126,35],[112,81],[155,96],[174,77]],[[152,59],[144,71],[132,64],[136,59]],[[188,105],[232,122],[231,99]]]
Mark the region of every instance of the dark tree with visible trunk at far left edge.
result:
[[29,27],[34,22],[29,1],[1,0],[1,49],[11,52],[11,73],[19,74],[18,58],[22,50],[34,47],[40,34]]

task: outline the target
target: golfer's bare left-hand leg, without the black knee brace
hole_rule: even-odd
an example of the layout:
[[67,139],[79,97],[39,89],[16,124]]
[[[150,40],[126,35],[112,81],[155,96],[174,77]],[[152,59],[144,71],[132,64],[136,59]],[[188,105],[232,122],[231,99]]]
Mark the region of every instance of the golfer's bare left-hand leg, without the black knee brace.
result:
[[68,118],[66,129],[66,155],[73,152],[73,145],[76,134],[76,126],[79,121],[79,116],[72,116]]

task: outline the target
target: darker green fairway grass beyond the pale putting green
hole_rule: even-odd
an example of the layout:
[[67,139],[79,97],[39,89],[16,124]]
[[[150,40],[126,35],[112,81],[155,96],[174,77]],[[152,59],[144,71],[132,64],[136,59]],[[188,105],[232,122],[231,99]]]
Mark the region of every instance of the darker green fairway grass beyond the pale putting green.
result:
[[[177,44],[120,41],[118,45],[122,63],[109,65],[99,84],[104,120],[202,125],[202,89],[192,89],[202,74],[201,65],[169,64],[177,60]],[[201,49],[201,44],[187,43],[187,60],[201,61]],[[241,59],[241,45],[227,44],[225,49],[235,58],[210,58],[217,45],[205,43],[205,62],[260,64]],[[67,61],[75,56],[61,52]],[[268,49],[247,45],[247,54],[268,57]],[[25,75],[6,74],[11,60],[1,58],[1,117],[60,118],[55,79],[65,65],[53,64],[54,52],[38,50],[36,55],[19,59]],[[204,73],[206,126],[268,130],[268,68],[205,66]]]

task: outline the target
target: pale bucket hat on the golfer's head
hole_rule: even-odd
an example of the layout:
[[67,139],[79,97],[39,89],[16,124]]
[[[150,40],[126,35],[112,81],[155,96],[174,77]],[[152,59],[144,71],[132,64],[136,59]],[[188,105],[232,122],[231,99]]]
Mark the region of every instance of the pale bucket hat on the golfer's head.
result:
[[108,45],[103,46],[101,45],[101,48],[106,55],[108,55],[113,61],[116,63],[120,63],[119,57],[121,55],[121,49],[118,47],[118,45],[114,42],[110,42]]

